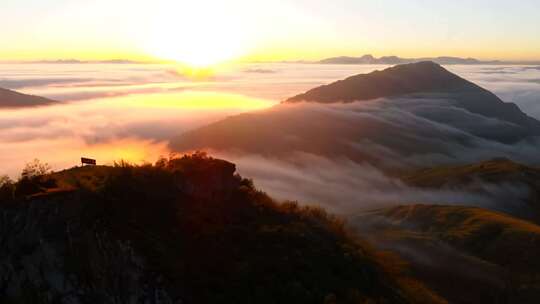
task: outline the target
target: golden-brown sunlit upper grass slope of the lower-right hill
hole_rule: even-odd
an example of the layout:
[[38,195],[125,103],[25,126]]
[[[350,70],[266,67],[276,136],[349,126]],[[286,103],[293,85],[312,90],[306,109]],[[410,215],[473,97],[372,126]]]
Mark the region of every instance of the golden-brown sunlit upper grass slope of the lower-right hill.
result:
[[[476,207],[413,205],[385,210],[399,225],[428,233],[498,265],[540,271],[540,226]],[[527,248],[528,250],[523,250]]]

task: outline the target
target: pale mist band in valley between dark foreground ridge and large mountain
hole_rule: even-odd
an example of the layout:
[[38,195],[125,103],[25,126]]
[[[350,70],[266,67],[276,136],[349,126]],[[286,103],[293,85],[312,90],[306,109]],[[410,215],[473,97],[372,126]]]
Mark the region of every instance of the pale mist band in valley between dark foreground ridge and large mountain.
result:
[[478,181],[470,189],[420,189],[367,163],[295,153],[287,159],[213,152],[237,165],[242,176],[278,200],[295,200],[333,213],[355,213],[403,204],[471,205],[500,211],[525,210],[529,188],[519,183]]

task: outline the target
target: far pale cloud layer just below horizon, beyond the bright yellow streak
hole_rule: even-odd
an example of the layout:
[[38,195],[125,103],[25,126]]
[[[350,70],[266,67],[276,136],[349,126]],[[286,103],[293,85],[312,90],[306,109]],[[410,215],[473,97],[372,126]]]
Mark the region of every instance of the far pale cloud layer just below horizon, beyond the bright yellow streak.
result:
[[[198,89],[284,100],[315,86],[384,65],[241,64],[193,71],[150,64],[0,64],[0,87],[61,101]],[[535,66],[447,66],[540,118]]]

